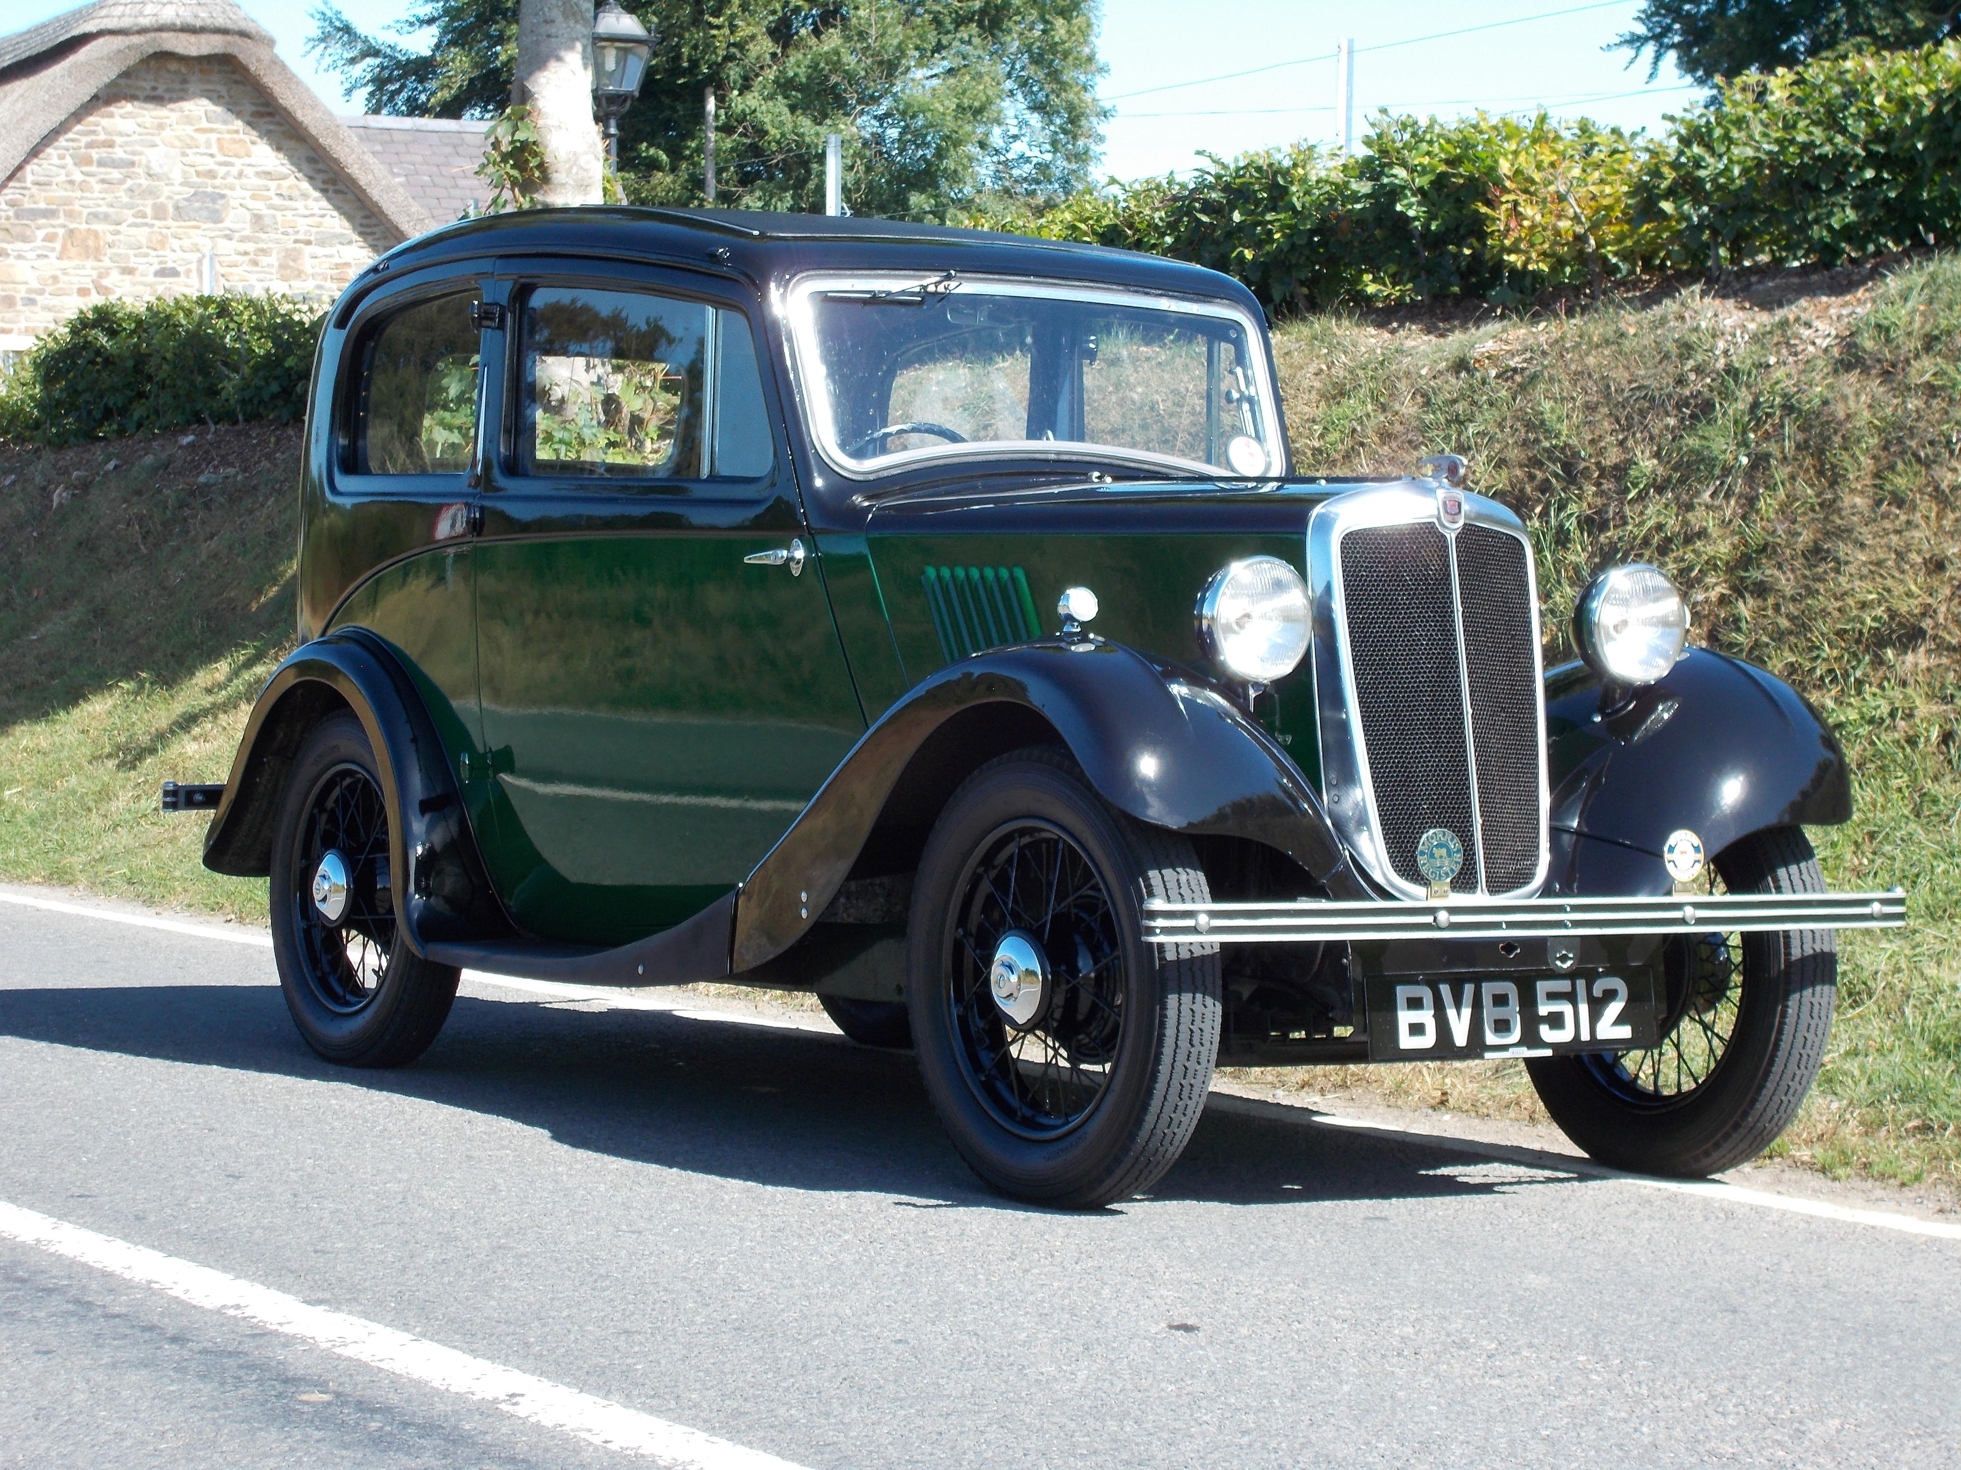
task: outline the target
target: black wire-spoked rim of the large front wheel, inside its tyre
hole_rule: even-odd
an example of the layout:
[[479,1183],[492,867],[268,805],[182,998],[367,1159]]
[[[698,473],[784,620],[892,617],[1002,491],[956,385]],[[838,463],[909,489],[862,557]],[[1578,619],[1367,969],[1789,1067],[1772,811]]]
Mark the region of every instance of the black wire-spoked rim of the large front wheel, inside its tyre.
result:
[[[953,917],[947,1005],[967,1084],[1020,1137],[1069,1133],[1108,1092],[1124,1043],[1128,974],[1104,880],[1061,829],[1018,821],[975,853]],[[990,984],[1010,935],[1039,949],[1045,974],[1026,1023]]]

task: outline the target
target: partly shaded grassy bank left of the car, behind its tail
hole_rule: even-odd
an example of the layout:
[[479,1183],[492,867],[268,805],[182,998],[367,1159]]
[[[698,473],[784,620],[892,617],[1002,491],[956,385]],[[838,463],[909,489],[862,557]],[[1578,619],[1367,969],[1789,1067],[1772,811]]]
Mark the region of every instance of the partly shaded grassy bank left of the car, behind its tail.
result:
[[265,917],[157,786],[226,778],[292,643],[298,449],[273,425],[0,449],[0,876]]

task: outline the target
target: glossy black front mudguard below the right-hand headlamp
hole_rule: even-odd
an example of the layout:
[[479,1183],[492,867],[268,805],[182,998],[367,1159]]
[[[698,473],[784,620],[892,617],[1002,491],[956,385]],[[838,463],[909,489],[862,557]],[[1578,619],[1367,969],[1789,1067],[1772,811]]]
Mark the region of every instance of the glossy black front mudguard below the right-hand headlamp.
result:
[[1545,676],[1553,864],[1547,894],[1659,894],[1661,849],[1688,829],[1716,857],[1765,827],[1851,817],[1837,737],[1783,680],[1690,649],[1637,690],[1584,664]]

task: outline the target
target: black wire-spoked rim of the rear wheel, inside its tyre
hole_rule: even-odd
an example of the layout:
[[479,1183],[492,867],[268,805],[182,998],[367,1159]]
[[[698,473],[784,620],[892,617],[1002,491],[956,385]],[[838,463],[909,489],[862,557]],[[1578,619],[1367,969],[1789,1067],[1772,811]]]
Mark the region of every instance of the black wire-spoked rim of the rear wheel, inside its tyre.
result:
[[[345,907],[329,917],[316,878],[329,857],[345,874]],[[337,764],[314,786],[294,835],[292,927],[306,980],[320,1002],[353,1015],[375,1002],[394,949],[388,880],[388,806],[357,764]]]

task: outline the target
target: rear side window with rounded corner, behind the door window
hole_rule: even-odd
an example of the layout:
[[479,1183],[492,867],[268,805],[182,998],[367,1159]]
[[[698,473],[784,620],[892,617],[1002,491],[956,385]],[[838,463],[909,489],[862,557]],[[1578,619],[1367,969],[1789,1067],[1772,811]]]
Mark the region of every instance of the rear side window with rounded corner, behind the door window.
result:
[[477,445],[475,292],[410,306],[369,333],[355,400],[355,474],[463,474]]

